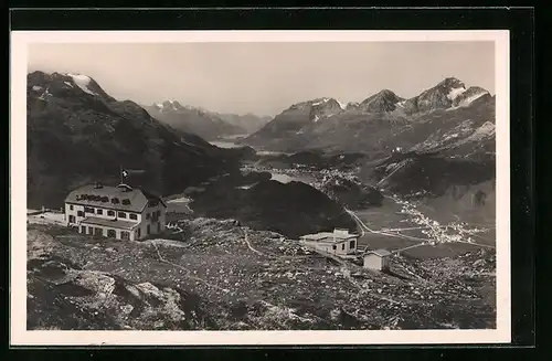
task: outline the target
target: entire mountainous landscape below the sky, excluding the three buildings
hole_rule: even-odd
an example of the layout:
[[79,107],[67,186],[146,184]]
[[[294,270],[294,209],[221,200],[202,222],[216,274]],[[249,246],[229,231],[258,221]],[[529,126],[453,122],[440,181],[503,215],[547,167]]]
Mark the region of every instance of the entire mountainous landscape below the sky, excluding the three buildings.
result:
[[[177,214],[125,242],[30,215],[28,328],[496,327],[487,91],[446,78],[410,99],[317,98],[272,120],[247,115],[244,129],[243,117],[176,100],[119,102],[83,76],[28,81],[29,209],[115,184],[125,164],[142,170],[126,182]],[[335,229],[359,235],[357,255],[299,242]],[[364,268],[360,254],[379,248],[390,268]]]

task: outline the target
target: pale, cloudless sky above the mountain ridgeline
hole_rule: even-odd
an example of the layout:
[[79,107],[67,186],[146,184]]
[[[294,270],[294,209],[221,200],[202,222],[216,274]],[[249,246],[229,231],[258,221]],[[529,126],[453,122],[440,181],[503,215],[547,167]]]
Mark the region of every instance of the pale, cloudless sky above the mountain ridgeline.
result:
[[319,97],[410,98],[454,76],[495,94],[492,42],[41,43],[29,72],[79,73],[119,100],[274,116]]

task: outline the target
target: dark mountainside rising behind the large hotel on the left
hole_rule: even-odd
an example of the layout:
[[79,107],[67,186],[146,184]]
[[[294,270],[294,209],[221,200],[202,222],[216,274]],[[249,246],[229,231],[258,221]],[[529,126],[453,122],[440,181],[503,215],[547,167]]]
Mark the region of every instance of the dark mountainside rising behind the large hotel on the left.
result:
[[83,183],[116,183],[120,166],[145,170],[129,183],[160,194],[236,168],[221,149],[116,100],[89,76],[33,72],[26,96],[29,206],[61,206]]

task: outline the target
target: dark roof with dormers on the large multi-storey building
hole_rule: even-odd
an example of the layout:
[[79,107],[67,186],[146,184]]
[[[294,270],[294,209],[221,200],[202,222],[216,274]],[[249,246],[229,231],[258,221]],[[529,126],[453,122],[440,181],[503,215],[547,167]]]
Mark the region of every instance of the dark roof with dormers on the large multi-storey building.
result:
[[102,185],[98,188],[88,184],[72,191],[65,202],[108,208],[117,211],[141,212],[151,200],[159,200],[163,206],[167,206],[160,198],[139,189],[126,185]]

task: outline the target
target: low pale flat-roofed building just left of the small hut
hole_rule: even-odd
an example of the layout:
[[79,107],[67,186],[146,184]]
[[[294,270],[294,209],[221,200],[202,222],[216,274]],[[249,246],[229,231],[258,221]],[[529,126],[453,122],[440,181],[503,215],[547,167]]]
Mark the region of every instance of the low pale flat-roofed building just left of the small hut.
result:
[[321,232],[307,234],[299,238],[306,246],[320,249],[335,255],[351,255],[357,253],[357,234],[349,233],[349,230],[336,229],[333,232]]

